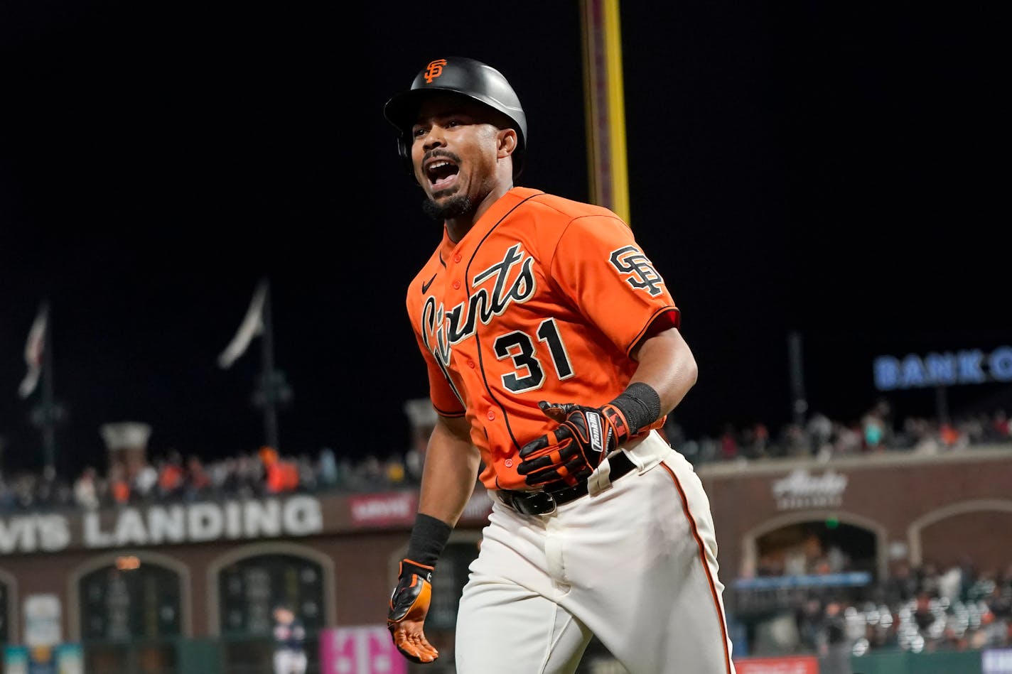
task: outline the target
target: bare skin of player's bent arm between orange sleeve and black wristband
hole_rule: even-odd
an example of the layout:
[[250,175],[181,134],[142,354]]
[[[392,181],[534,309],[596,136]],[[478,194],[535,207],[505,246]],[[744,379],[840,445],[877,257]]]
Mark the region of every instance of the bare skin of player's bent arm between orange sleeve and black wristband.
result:
[[678,328],[660,332],[640,345],[634,354],[639,361],[630,383],[643,382],[661,399],[661,414],[668,414],[695,385],[698,369],[695,356]]

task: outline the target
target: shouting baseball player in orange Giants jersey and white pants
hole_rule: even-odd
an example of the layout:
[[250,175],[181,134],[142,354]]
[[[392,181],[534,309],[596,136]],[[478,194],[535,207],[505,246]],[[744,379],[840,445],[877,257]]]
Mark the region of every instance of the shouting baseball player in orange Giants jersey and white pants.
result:
[[460,674],[735,671],[709,503],[657,432],[696,380],[679,310],[614,213],[514,186],[527,121],[496,69],[436,59],[385,116],[442,240],[407,290],[438,413],[388,626],[418,663],[436,562],[493,500],[460,597]]

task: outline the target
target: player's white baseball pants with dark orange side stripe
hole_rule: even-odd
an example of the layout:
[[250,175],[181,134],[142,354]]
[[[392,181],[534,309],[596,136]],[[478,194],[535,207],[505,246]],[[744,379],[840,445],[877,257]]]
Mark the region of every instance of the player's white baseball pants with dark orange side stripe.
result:
[[637,470],[549,515],[496,492],[460,598],[457,674],[570,674],[593,636],[629,674],[734,674],[709,501],[652,432]]

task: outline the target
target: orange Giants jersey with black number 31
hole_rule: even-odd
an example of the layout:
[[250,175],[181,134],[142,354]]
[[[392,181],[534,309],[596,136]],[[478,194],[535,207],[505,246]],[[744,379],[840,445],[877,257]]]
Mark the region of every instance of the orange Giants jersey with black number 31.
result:
[[603,405],[636,370],[629,351],[679,324],[664,279],[618,216],[525,187],[458,243],[443,232],[407,309],[432,404],[467,415],[489,489],[526,488],[520,447],[557,425],[538,401]]

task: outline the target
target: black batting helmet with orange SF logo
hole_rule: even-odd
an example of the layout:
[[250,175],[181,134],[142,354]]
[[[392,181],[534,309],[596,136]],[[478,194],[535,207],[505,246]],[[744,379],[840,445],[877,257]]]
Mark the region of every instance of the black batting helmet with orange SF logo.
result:
[[520,99],[503,74],[492,66],[466,57],[436,59],[418,73],[411,88],[403,91],[384,106],[387,117],[400,136],[397,150],[408,172],[414,175],[411,165],[411,128],[418,117],[422,100],[433,93],[456,93],[502,112],[513,123],[517,146],[513,152],[513,177],[520,175],[523,155],[527,148],[527,117],[520,107]]

